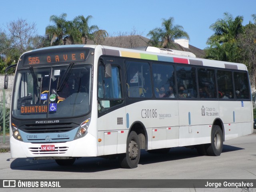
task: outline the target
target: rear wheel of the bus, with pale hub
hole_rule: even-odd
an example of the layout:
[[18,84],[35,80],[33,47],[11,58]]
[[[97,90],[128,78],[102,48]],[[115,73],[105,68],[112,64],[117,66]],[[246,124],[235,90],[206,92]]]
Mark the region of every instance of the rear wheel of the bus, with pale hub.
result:
[[212,127],[211,143],[206,144],[206,152],[209,156],[220,156],[223,148],[223,133],[218,125]]

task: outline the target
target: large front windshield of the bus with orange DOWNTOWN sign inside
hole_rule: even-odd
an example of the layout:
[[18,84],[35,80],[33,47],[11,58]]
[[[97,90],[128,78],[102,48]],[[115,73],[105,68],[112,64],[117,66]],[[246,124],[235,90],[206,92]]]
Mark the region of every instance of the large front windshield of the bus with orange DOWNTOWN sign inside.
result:
[[17,71],[12,115],[22,119],[73,118],[90,111],[92,65],[32,67]]

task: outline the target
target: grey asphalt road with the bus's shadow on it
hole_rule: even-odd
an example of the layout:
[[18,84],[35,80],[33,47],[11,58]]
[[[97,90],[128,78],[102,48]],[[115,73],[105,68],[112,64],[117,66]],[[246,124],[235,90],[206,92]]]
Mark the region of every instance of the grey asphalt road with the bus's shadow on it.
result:
[[[256,179],[256,134],[224,142],[220,156],[199,156],[196,150],[172,148],[168,154],[143,151],[135,169],[122,169],[116,159],[80,158],[73,166],[58,166],[54,160],[12,159],[10,153],[0,153],[0,179]],[[128,180],[129,181],[129,180]],[[150,182],[150,180],[148,181]],[[131,184],[132,186],[132,184]],[[182,187],[182,186],[181,186]],[[29,191],[35,189],[18,189]],[[36,189],[45,191],[47,189]],[[48,189],[49,190],[49,189]],[[51,189],[51,191],[84,191],[81,188]],[[5,191],[17,191],[15,188]],[[208,192],[256,191],[241,188],[89,188],[86,191],[111,192]]]

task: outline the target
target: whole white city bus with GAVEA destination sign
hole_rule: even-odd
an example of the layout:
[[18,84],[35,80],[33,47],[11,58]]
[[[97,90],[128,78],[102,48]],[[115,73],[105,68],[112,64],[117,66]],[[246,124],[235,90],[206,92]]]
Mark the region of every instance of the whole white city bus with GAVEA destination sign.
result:
[[52,46],[16,66],[11,155],[69,165],[116,154],[124,168],[138,165],[141,149],[219,156],[223,141],[252,133],[252,119],[244,64],[152,47]]

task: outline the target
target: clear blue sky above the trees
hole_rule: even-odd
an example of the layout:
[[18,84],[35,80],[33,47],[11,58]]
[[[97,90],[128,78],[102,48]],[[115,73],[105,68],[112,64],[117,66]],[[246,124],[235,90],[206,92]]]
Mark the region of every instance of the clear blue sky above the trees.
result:
[[214,33],[209,27],[224,18],[224,12],[243,16],[243,25],[256,14],[256,0],[2,0],[0,2],[0,30],[18,19],[36,24],[37,33],[45,34],[52,25],[50,16],[66,13],[66,20],[76,16],[92,16],[89,25],[97,25],[110,36],[119,33],[147,36],[161,27],[162,19],[174,18],[190,36],[189,44],[200,49],[207,47],[207,39]]

